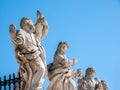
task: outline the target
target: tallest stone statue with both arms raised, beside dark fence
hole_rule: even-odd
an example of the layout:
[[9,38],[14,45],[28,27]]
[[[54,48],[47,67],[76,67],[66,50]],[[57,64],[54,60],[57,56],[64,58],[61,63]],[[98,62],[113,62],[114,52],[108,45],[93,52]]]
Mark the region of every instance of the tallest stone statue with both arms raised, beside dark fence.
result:
[[47,75],[47,66],[44,48],[39,43],[47,35],[48,24],[37,11],[35,25],[30,18],[24,17],[20,27],[16,30],[15,25],[11,24],[9,29],[23,78],[21,90],[40,90]]

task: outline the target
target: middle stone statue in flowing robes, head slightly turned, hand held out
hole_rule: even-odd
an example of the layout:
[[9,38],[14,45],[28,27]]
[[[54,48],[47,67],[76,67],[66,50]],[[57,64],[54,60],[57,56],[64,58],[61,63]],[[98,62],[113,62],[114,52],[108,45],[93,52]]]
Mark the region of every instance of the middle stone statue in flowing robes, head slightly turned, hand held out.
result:
[[76,73],[70,68],[77,60],[69,60],[65,52],[67,42],[60,42],[54,55],[53,63],[48,64],[48,77],[50,84],[48,90],[76,90],[74,78]]

